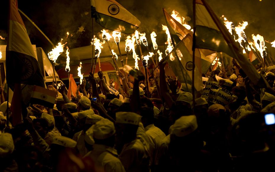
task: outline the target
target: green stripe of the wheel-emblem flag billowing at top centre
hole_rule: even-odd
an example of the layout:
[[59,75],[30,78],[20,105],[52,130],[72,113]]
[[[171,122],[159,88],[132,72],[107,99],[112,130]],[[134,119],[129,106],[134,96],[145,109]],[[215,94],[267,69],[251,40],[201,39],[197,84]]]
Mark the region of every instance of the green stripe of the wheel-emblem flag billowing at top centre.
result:
[[133,24],[105,14],[96,12],[96,16],[96,22],[106,29],[119,31],[124,34],[132,34],[138,29],[138,27]]

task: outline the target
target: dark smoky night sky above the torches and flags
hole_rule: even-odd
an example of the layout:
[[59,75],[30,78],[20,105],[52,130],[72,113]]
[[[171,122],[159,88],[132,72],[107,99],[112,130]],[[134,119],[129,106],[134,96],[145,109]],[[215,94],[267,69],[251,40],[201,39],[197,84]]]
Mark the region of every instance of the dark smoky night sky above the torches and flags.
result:
[[[192,25],[192,1],[193,0],[117,0],[128,11],[135,15],[140,21],[140,31],[146,35],[155,31],[161,37],[164,31],[161,24],[165,24],[162,8],[166,8],[171,12],[173,9],[178,11],[182,16],[188,16],[188,24]],[[248,21],[248,27],[245,29],[248,39],[251,41],[251,34],[261,34],[266,40],[273,41],[275,39],[274,31],[274,0],[208,0],[213,10],[221,16],[224,14],[229,21],[235,25],[242,20]],[[7,7],[8,0],[1,5],[1,24],[0,35],[6,36],[7,30]],[[49,37],[49,39],[57,44],[62,37],[66,37],[69,31],[75,34],[88,16],[82,16],[86,11],[90,11],[89,0],[18,0],[19,9],[27,14],[35,24]],[[22,16],[27,27],[28,34],[33,44],[42,47],[45,52],[51,50],[52,46],[47,40],[33,27],[33,25]],[[85,31],[76,38],[69,40],[70,47],[81,47],[90,45],[92,37],[91,19],[85,27]],[[100,32],[101,26],[95,23],[95,34]],[[165,36],[165,35],[164,35]],[[163,40],[158,41],[165,42]],[[122,39],[123,36],[122,36]],[[5,42],[0,42],[4,44]]]

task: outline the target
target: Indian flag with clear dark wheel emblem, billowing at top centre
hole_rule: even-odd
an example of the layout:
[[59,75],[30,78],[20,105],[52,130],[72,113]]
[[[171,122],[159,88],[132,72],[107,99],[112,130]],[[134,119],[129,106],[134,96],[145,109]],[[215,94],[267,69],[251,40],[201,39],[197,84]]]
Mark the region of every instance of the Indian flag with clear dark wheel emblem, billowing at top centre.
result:
[[140,21],[115,0],[91,0],[92,16],[102,27],[124,34],[138,29]]

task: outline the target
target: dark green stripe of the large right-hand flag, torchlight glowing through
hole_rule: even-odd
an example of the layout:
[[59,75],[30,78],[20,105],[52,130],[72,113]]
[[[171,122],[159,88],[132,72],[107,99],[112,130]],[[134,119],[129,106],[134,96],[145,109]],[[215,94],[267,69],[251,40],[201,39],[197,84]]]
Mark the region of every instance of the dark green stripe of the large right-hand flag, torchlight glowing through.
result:
[[234,56],[221,32],[205,26],[196,26],[196,48],[211,49]]

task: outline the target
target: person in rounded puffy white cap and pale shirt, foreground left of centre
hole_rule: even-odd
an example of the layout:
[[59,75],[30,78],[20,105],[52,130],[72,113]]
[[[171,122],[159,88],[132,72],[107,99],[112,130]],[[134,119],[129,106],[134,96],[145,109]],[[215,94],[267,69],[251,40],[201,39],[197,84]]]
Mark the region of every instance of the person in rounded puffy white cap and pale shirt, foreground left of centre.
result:
[[114,148],[115,133],[114,123],[108,119],[101,119],[86,131],[87,139],[94,142],[93,150],[86,156],[92,158],[97,171],[125,171]]

